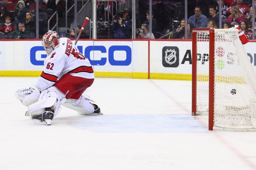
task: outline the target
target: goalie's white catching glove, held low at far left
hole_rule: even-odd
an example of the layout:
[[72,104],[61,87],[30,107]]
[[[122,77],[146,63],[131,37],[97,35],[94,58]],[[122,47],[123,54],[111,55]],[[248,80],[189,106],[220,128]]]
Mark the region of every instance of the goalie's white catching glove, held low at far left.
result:
[[38,101],[40,93],[41,90],[36,85],[31,84],[28,88],[18,89],[14,95],[23,105],[29,106]]

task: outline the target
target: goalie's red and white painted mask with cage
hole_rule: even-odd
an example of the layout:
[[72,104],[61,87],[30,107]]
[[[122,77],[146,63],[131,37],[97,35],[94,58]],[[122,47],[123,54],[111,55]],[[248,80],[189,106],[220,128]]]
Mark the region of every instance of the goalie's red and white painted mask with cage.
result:
[[47,55],[60,45],[60,37],[56,31],[49,30],[43,35],[42,45]]

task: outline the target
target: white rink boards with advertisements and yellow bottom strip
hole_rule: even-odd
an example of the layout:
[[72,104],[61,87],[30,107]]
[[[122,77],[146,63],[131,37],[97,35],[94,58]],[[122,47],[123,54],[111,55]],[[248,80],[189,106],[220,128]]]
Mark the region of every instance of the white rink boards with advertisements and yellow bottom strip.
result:
[[[244,45],[256,70],[256,42]],[[191,80],[191,40],[79,40],[99,77]],[[1,40],[0,76],[40,76],[46,54],[41,40]]]

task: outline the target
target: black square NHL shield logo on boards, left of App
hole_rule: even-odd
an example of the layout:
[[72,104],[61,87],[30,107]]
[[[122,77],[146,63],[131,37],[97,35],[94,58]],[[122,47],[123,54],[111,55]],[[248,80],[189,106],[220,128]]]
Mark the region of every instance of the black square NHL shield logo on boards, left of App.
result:
[[176,46],[165,46],[162,50],[162,64],[164,67],[179,66],[179,48]]

